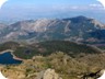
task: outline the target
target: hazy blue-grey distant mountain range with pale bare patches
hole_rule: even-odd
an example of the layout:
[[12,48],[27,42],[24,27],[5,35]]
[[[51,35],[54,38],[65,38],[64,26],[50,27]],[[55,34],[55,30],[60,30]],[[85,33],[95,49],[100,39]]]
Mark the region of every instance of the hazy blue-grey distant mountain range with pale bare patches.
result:
[[75,16],[68,19],[39,19],[0,24],[0,41],[73,41],[103,42],[105,25],[94,19]]

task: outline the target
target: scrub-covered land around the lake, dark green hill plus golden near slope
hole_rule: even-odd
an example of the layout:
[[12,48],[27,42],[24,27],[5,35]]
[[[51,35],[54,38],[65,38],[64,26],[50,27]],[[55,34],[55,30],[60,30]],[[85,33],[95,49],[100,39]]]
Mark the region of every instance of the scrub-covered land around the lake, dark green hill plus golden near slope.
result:
[[3,75],[10,79],[35,79],[42,70],[55,69],[62,79],[81,79],[89,72],[104,69],[105,54],[98,48],[68,41],[49,41],[31,45],[8,42],[0,52],[13,49],[23,58],[20,65],[2,66]]

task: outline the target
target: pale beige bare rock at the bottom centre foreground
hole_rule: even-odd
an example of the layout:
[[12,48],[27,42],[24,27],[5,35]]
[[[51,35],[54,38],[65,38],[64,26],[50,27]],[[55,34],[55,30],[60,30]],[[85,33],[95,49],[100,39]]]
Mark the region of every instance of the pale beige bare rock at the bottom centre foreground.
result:
[[47,69],[38,74],[36,79],[62,79],[54,69]]

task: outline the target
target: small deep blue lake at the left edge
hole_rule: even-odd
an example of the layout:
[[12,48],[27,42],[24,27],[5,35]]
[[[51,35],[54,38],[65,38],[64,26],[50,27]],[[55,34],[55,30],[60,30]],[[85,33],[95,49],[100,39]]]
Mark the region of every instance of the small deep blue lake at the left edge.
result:
[[0,54],[0,64],[1,65],[12,65],[12,64],[21,64],[22,60],[14,59],[11,53]]

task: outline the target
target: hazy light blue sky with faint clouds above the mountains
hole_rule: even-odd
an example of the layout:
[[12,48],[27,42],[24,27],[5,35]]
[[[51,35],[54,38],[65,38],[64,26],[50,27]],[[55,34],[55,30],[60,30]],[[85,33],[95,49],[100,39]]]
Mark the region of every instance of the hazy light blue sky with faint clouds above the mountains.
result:
[[77,15],[103,21],[104,14],[103,5],[96,0],[8,0],[0,9],[0,21]]

